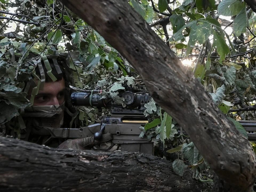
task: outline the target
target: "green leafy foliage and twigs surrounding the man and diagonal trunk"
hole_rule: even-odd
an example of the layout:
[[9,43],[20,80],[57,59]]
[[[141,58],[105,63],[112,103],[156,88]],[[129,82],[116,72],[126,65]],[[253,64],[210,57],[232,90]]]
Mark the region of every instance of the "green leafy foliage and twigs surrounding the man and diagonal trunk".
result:
[[[255,120],[253,112],[245,112],[247,107],[256,109],[255,15],[245,2],[130,0],[129,4],[181,60],[194,63],[187,70],[193,71],[230,120]],[[47,60],[45,55],[56,52],[65,56],[62,60],[72,71],[74,86],[80,89],[101,90],[101,98],[112,98],[123,106],[123,90],[146,91],[133,67],[97,31],[58,1],[3,0],[0,9],[2,17],[13,12],[11,19],[0,21],[0,106],[5,109],[0,112],[0,123],[16,117],[15,131],[22,128],[21,109],[33,104],[39,89],[35,86],[30,101],[26,98],[26,85],[33,83],[31,75],[37,78],[34,66],[41,57]],[[21,22],[10,32],[12,19]],[[173,167],[177,174],[182,175],[189,167],[194,170],[193,177],[199,179],[207,163],[193,142],[153,99],[145,107],[149,123],[140,127],[140,137],[162,145],[168,153],[176,153]],[[83,125],[100,122],[102,114],[97,109],[79,106],[77,110]],[[233,123],[246,135],[239,123]]]

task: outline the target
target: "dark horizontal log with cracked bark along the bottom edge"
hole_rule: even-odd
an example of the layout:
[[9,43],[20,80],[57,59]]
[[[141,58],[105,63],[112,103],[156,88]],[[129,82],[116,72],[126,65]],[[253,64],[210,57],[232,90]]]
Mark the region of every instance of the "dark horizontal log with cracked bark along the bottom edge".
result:
[[171,162],[131,152],[72,151],[0,137],[0,191],[210,191]]

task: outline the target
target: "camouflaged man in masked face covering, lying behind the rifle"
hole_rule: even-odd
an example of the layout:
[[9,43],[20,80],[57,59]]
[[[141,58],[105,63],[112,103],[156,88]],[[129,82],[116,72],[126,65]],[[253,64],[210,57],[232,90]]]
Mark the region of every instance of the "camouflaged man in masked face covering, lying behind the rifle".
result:
[[[35,74],[38,78],[31,79],[25,88],[28,93],[27,98],[30,101],[33,100],[33,105],[27,107],[21,113],[25,126],[21,129],[20,133],[15,132],[13,129],[8,130],[2,124],[0,127],[0,136],[13,135],[16,138],[19,137],[29,142],[62,149],[114,151],[116,147],[111,147],[109,150],[109,146],[111,145],[109,141],[113,138],[111,134],[104,134],[101,142],[95,142],[93,136],[67,141],[63,138],[51,137],[50,132],[47,130],[49,127],[72,128],[78,114],[75,111],[72,113],[66,107],[70,100],[68,89],[71,84],[70,81],[73,79],[67,81],[67,75],[65,75],[64,71],[68,69],[58,64],[57,57],[55,55],[48,58],[43,56],[37,62]],[[40,89],[33,96],[32,93],[37,86]]]

